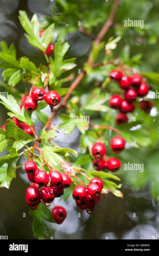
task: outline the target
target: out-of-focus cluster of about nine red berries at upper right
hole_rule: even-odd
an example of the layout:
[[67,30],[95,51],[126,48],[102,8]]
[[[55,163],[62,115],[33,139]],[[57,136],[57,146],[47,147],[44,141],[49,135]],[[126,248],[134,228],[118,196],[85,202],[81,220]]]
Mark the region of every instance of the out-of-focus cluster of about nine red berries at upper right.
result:
[[[127,76],[119,70],[112,70],[109,74],[112,81],[118,81],[121,89],[124,89],[124,99],[119,95],[113,95],[109,100],[109,105],[112,108],[119,109],[120,113],[116,116],[116,124],[128,122],[126,113],[133,112],[135,109],[134,101],[137,97],[144,97],[149,92],[149,85],[142,82],[142,76],[133,74]],[[146,113],[149,113],[153,104],[150,100],[140,101],[140,107]]]

